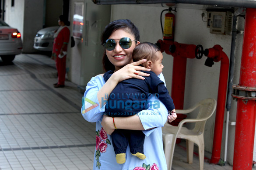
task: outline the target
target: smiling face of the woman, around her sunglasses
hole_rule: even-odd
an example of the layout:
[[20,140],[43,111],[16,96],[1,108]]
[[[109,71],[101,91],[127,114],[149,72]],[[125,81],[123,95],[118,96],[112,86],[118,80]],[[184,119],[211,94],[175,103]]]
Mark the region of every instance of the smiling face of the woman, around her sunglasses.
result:
[[[132,40],[132,46],[128,49],[123,49],[119,45],[119,40],[123,37],[128,37]],[[132,58],[132,53],[133,49],[136,47],[137,44],[140,44],[139,41],[133,41],[135,40],[135,37],[126,32],[124,29],[118,29],[114,31],[110,36],[109,39],[113,39],[116,41],[116,47],[112,51],[106,50],[106,54],[109,58],[109,61],[115,66],[116,71],[119,70],[120,68],[123,68],[123,66],[132,63],[133,58]]]

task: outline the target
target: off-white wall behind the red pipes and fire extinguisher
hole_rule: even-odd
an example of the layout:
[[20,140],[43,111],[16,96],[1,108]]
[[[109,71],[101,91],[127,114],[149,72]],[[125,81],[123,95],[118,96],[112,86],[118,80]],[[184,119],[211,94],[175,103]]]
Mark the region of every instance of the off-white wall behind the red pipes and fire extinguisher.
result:
[[[162,39],[160,14],[166,7],[153,7],[142,5],[112,5],[111,20],[130,19],[140,30],[140,41],[156,43]],[[212,48],[215,44],[221,45],[223,51],[230,56],[231,36],[210,34],[210,28],[202,21],[203,9],[178,8],[175,13],[175,41],[183,44],[201,44],[203,48]],[[164,12],[165,14],[165,12]],[[164,16],[163,14],[163,16]],[[164,19],[163,19],[164,22]],[[238,19],[238,26],[243,30],[243,19]],[[242,51],[242,35],[237,36],[237,48],[235,51],[235,77],[234,84],[238,84],[240,72],[240,60]],[[172,62],[171,55],[164,54],[163,74],[169,92],[172,84]],[[217,100],[217,90],[221,63],[214,63],[212,67],[204,65],[206,57],[200,60],[187,59],[186,87],[184,109],[189,108],[202,99],[214,98]],[[177,82],[179,83],[179,82]],[[236,102],[232,101],[230,120],[235,121]],[[224,121],[226,115],[224,117]],[[212,152],[214,136],[215,113],[208,121],[205,129],[205,150]],[[221,158],[224,157],[224,135],[225,123],[223,126]],[[228,162],[233,163],[235,127],[229,126]]]

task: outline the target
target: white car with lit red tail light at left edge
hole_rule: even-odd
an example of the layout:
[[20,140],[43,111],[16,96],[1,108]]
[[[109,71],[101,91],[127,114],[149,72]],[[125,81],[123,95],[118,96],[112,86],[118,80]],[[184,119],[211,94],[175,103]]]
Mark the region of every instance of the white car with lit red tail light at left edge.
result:
[[4,62],[14,60],[16,54],[21,54],[21,33],[0,20],[0,57]]

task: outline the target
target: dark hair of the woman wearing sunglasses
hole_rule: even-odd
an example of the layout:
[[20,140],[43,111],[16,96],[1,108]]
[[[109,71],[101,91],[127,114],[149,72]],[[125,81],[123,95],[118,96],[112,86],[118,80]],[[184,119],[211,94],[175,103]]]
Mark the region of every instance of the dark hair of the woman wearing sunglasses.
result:
[[[102,45],[105,43],[107,39],[109,39],[110,35],[118,30],[123,29],[129,34],[132,34],[135,37],[135,40],[140,41],[140,33],[138,28],[132,23],[130,20],[114,20],[110,22],[102,32]],[[115,70],[115,66],[109,61],[106,51],[104,51],[102,64],[105,71]]]

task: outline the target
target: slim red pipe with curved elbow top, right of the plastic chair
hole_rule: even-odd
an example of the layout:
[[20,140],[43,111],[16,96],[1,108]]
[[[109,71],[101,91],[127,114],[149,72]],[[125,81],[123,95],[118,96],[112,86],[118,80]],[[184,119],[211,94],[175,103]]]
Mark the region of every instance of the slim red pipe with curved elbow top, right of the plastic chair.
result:
[[222,51],[220,45],[214,45],[213,48],[208,49],[208,58],[213,58],[215,62],[221,61],[221,70],[219,77],[217,108],[214,124],[214,139],[213,139],[213,151],[210,163],[217,164],[221,158],[221,139],[222,129],[224,122],[224,112],[228,85],[228,68],[229,60],[227,54]]

